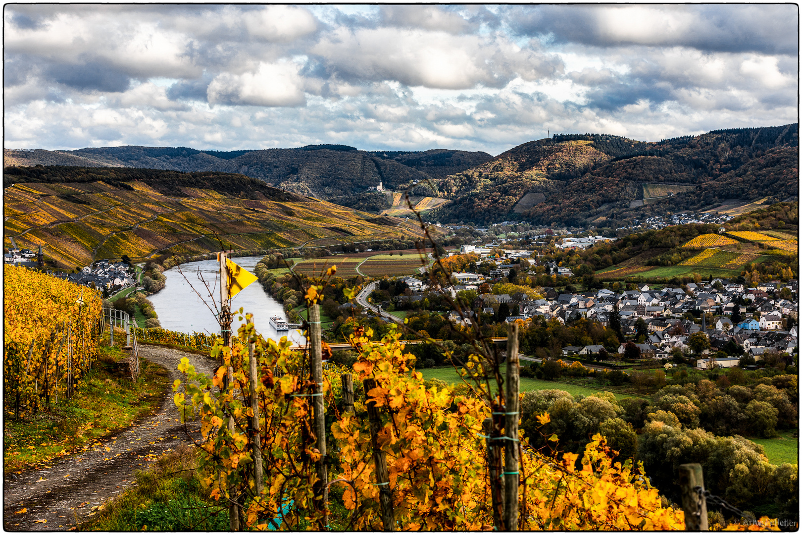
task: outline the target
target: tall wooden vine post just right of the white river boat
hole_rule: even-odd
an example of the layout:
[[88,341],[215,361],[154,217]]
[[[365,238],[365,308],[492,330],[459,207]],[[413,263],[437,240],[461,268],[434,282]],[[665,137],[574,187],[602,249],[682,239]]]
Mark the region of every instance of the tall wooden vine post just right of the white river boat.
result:
[[[320,529],[329,527],[329,477],[326,466],[326,414],[323,408],[323,354],[320,333],[320,306],[317,303],[309,307],[310,330],[310,369],[314,382],[312,407],[314,408],[314,434],[317,439],[320,459],[315,463],[318,472],[318,484],[314,495],[318,499],[318,510],[323,512]],[[318,497],[319,496],[319,497]]]

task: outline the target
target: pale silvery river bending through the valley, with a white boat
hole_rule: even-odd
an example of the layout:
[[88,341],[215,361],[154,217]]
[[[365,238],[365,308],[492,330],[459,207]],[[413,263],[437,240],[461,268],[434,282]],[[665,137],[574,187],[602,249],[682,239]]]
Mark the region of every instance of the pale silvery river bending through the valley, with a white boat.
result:
[[[233,258],[233,261],[253,273],[253,268],[261,259],[262,257],[239,257]],[[182,272],[186,279],[181,275]],[[199,272],[209,284],[209,288],[213,290],[213,299],[209,298],[209,290],[206,290],[203,282],[198,278]],[[153,302],[156,314],[159,314],[161,326],[183,333],[191,333],[195,330],[209,333],[220,332],[220,326],[217,325],[214,314],[204,303],[208,302],[214,310],[212,301],[220,301],[220,286],[217,284],[220,278],[220,267],[217,260],[201,260],[181,264],[165,271],[164,276],[167,277],[164,290],[148,297]],[[200,292],[204,298],[201,299],[192,288]],[[304,338],[299,330],[290,330],[288,334],[286,330],[277,332],[270,326],[269,318],[271,316],[281,316],[286,321],[287,315],[282,304],[267,294],[259,282],[253,282],[234,296],[231,300],[232,310],[239,310],[240,307],[243,307],[244,312],[253,314],[256,330],[265,338],[279,340],[282,336],[289,335],[294,342],[304,343]],[[239,317],[239,314],[234,314],[232,325],[234,332],[245,321],[243,317],[240,322]]]

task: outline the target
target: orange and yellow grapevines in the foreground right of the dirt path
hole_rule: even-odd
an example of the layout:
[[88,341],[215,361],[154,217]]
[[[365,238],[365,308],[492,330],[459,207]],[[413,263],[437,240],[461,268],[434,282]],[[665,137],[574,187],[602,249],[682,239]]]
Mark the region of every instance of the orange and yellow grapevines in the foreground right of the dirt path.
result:
[[[322,477],[331,482],[330,492],[342,492],[341,530],[492,529],[482,427],[490,409],[479,397],[455,395],[448,387],[427,389],[423,376],[410,369],[411,355],[403,354],[398,332],[380,342],[370,337],[369,331],[350,337],[358,351],[353,382],[364,381],[364,397],[344,401],[346,370],[330,365],[323,371],[322,403],[333,420],[326,433],[332,459],[326,476],[319,476],[320,443],[310,432],[313,405],[321,402],[311,397],[316,387],[306,380],[305,355],[290,351],[290,342],[265,340],[253,324],[242,326],[232,347],[216,345],[212,351],[229,363],[233,378],[221,391],[212,387],[224,384],[225,368],[205,377],[183,359],[179,371],[185,380],[176,381],[174,401],[182,418],[200,416],[201,477],[211,496],[222,504],[238,496],[241,522],[250,529],[279,521],[291,531],[334,529],[327,493],[320,492]],[[249,373],[249,359],[251,370],[263,371],[253,382],[257,375]],[[241,399],[248,398],[244,410]],[[359,416],[366,408],[370,419]],[[549,422],[548,414],[537,418],[541,426]],[[601,435],[592,437],[579,464],[571,452],[520,451],[517,529],[684,528],[683,512],[662,505],[640,468],[629,461],[614,465]],[[254,459],[263,472],[249,468]]]

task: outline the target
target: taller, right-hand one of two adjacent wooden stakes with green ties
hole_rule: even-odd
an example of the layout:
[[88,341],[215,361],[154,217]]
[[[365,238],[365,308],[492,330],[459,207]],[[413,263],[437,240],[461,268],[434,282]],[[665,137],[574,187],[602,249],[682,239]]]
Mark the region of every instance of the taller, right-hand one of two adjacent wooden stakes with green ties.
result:
[[510,323],[507,334],[507,394],[506,421],[504,423],[504,525],[509,531],[518,529],[518,391],[520,390],[520,363],[518,360],[518,325]]

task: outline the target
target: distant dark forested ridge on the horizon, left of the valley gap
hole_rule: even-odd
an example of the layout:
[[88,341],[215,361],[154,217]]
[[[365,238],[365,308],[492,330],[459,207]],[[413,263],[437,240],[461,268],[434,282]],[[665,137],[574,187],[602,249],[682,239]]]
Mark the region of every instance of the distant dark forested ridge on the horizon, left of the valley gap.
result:
[[151,168],[183,172],[241,173],[276,188],[331,199],[357,195],[383,182],[400,188],[475,167],[486,152],[366,152],[346,145],[309,145],[257,151],[200,151],[186,147],[105,147],[75,151],[4,150],[6,166]]

